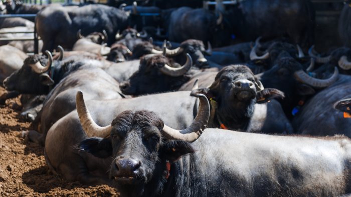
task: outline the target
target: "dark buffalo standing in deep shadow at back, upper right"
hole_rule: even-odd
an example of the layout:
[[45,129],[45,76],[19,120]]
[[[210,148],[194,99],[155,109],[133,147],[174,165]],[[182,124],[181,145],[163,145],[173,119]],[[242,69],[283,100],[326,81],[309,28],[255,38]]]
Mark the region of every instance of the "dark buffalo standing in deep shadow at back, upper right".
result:
[[241,41],[288,36],[303,48],[314,41],[314,10],[310,0],[245,0],[224,14]]

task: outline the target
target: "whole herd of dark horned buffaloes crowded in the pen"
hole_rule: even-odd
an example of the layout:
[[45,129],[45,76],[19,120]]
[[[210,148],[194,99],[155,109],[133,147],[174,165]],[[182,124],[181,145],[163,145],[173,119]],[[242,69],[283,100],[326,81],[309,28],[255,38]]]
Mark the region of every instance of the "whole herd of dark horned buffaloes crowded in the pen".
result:
[[51,172],[121,196],[351,194],[350,2],[324,52],[310,0],[216,2],[1,1],[42,52],[2,43],[0,104]]

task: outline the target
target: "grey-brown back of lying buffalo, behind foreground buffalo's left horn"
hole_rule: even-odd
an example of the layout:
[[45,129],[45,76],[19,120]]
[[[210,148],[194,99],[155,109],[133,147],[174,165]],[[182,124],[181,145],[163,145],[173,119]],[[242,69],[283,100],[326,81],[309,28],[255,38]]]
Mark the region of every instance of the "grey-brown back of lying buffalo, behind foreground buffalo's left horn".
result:
[[77,90],[86,92],[91,99],[118,99],[125,97],[121,94],[119,83],[101,68],[96,67],[94,61],[84,61],[78,70],[63,78],[47,95],[43,102],[40,116],[33,123],[42,134],[31,130],[30,140],[44,145],[46,133],[58,119],[75,109],[75,95]]

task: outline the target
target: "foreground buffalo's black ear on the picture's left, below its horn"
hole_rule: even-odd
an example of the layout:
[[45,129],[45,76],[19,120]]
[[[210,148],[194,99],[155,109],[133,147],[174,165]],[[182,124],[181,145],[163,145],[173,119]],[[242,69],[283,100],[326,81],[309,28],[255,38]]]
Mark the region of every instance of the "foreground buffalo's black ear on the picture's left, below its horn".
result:
[[78,147],[81,151],[89,152],[99,158],[106,158],[112,155],[112,143],[110,138],[87,138],[81,141]]

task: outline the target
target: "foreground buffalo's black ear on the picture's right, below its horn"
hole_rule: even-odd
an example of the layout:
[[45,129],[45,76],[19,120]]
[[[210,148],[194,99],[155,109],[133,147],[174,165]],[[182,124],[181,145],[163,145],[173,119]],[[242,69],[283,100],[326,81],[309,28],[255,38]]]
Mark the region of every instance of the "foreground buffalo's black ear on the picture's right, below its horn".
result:
[[162,145],[163,157],[170,162],[178,160],[182,155],[195,152],[191,143],[183,140],[171,140]]

